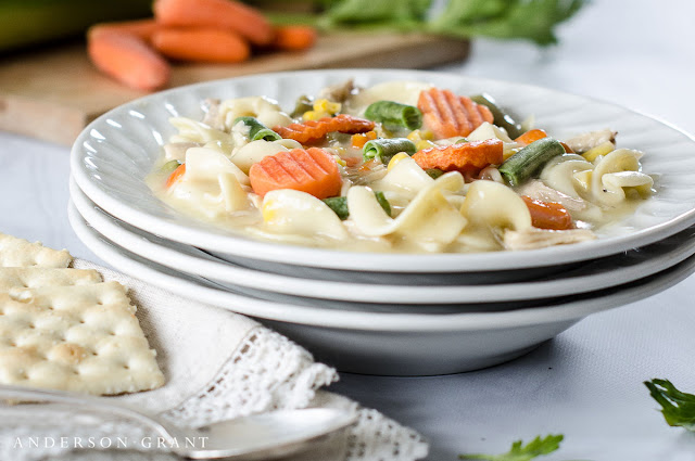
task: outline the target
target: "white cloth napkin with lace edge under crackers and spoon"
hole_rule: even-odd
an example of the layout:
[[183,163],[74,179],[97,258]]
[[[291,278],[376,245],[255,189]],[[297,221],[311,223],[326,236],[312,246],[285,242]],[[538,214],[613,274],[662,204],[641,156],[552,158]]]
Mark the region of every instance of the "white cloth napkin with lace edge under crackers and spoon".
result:
[[[191,427],[274,409],[340,407],[357,412],[357,423],[293,460],[408,461],[427,456],[427,443],[415,431],[319,390],[337,381],[338,373],[287,337],[247,317],[92,262],[78,259],[73,266],[96,269],[104,280],[128,287],[167,380],[155,390],[109,398]],[[104,421],[54,406],[26,407],[0,408],[0,460],[178,459],[155,449],[155,436],[131,421]]]

